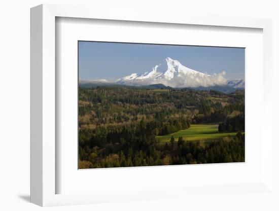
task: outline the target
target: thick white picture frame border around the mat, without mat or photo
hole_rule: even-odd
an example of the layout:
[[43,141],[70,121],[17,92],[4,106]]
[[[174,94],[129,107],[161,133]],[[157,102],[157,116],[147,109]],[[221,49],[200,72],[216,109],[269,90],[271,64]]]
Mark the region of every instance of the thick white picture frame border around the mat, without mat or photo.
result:
[[[218,16],[191,16],[178,15],[165,17],[164,14],[156,17],[145,15],[141,12],[129,12],[119,14],[110,11],[104,14],[97,8],[40,5],[31,9],[31,202],[41,206],[70,205],[111,201],[129,201],[143,199],[164,199],[189,195],[191,192],[205,191],[200,187],[191,187],[185,190],[183,187],[170,187],[162,194],[161,190],[138,190],[132,193],[123,193],[118,190],[98,191],[95,193],[56,194],[56,185],[61,182],[56,177],[55,150],[57,131],[55,128],[56,111],[56,40],[55,19],[87,18],[104,20],[141,21],[169,24],[192,24],[222,27],[259,28],[263,30],[263,69],[264,69],[264,104],[263,122],[271,122],[272,110],[271,95],[271,20],[263,18],[246,17],[218,17]],[[268,108],[268,109],[267,109]],[[265,142],[262,150],[263,180],[254,184],[224,184],[211,187],[211,191],[243,194],[241,189],[256,190],[257,193],[272,193],[272,136],[271,127],[263,125]],[[265,162],[266,161],[266,162]],[[208,189],[208,188],[207,188]],[[173,194],[173,192],[178,192]],[[253,191],[252,191],[253,192]]]

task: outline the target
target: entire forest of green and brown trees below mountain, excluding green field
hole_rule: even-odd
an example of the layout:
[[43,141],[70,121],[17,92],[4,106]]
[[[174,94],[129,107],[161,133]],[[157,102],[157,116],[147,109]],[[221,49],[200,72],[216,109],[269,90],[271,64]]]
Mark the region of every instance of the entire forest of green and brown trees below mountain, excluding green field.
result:
[[[183,138],[162,145],[155,137],[199,123],[223,122],[220,132],[226,124],[232,125],[231,131],[243,132],[244,97],[244,90],[225,94],[128,86],[79,88],[80,168],[243,161],[241,133],[233,142],[220,140],[220,145],[206,147],[186,144]],[[221,155],[224,149],[237,151]]]

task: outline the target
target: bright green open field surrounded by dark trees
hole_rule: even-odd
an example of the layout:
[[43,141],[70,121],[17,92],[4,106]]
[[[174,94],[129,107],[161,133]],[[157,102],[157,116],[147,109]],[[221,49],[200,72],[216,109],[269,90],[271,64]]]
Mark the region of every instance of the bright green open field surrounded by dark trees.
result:
[[180,130],[178,132],[168,135],[158,135],[156,139],[160,142],[169,142],[171,136],[177,141],[180,136],[184,140],[211,140],[220,139],[226,136],[235,136],[236,132],[218,132],[218,124],[191,124],[191,127],[186,130]]

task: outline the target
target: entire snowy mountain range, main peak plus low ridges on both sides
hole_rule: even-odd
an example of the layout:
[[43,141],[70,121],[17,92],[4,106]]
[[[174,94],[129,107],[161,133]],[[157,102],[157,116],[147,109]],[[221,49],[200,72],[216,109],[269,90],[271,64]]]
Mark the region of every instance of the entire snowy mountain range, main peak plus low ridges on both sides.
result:
[[[131,67],[132,68],[132,67]],[[244,89],[243,79],[227,80],[225,72],[208,75],[182,65],[178,60],[167,57],[159,65],[155,65],[151,71],[144,74],[133,73],[116,81],[106,79],[80,81],[82,86],[95,85],[129,85],[149,86],[160,85],[171,88],[194,88],[201,90],[214,89],[224,93],[231,93],[236,89]]]

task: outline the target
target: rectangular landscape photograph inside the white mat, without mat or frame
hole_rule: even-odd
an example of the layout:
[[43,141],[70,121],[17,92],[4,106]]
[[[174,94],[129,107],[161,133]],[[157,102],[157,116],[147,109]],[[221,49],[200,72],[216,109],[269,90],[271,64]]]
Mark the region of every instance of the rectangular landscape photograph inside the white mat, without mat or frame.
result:
[[78,48],[79,168],[245,161],[245,48]]

